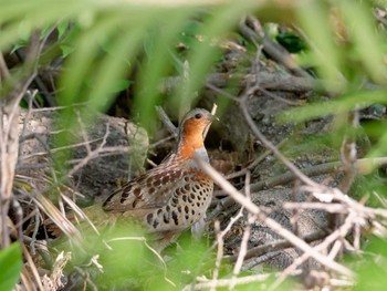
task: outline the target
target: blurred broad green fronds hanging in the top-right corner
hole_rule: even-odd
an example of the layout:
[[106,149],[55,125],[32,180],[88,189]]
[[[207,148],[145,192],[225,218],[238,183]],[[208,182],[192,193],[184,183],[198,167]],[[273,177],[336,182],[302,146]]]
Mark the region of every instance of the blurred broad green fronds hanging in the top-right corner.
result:
[[345,92],[364,75],[386,82],[384,32],[377,30],[367,1],[311,1],[296,12],[312,48],[306,58],[328,91]]

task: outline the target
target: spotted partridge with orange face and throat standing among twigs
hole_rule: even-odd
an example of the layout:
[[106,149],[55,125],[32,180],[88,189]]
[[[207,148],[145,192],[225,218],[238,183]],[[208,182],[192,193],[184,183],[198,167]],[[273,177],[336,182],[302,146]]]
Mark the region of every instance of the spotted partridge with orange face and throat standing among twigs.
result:
[[205,132],[213,116],[206,110],[189,112],[179,125],[177,149],[160,165],[128,181],[103,204],[107,214],[135,218],[164,249],[180,232],[203,219],[213,181],[194,159],[209,162]]

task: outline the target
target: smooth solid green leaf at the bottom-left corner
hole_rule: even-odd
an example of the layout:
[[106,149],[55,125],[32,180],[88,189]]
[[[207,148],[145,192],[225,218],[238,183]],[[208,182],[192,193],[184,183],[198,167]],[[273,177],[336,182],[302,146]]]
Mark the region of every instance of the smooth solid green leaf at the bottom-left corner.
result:
[[14,242],[0,251],[0,290],[12,290],[19,281],[22,267],[20,243]]

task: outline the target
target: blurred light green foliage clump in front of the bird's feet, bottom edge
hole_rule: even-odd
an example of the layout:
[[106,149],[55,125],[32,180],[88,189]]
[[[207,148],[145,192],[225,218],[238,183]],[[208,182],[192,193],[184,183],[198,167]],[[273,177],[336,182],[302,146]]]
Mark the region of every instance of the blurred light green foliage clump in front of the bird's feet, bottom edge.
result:
[[[84,245],[74,248],[62,238],[53,247],[72,253],[67,273],[82,270],[101,290],[172,290],[174,284],[182,288],[213,267],[215,257],[208,245],[192,241],[190,233],[179,239],[179,245],[169,246],[161,258],[150,249],[155,238],[128,221],[118,221],[114,228],[100,226],[101,236],[88,226],[81,229]],[[97,263],[91,263],[92,258]]]

